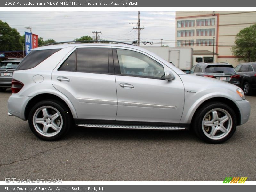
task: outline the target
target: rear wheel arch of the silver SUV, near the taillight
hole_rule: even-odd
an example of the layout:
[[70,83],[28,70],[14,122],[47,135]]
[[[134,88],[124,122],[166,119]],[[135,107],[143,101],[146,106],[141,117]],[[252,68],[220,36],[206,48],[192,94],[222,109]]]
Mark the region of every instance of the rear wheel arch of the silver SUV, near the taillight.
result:
[[25,108],[25,119],[26,120],[28,119],[30,109],[37,102],[42,101],[42,100],[48,100],[48,99],[60,101],[61,103],[66,105],[66,107],[69,109],[70,113],[72,114],[73,118],[77,118],[75,108],[73,107],[73,105],[71,104],[70,101],[66,101],[66,100],[64,100],[64,98],[60,98],[59,96],[51,94],[51,93],[43,93],[43,94],[36,95],[31,100],[29,100],[29,102],[28,102],[28,104],[26,105],[26,108]]

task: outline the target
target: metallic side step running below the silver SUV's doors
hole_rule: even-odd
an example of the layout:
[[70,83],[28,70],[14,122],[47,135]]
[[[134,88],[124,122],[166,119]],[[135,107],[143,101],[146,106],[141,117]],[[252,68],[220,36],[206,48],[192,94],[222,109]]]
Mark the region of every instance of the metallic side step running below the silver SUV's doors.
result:
[[141,126],[141,125],[107,125],[107,124],[78,124],[80,127],[93,128],[117,128],[117,129],[166,129],[166,130],[182,130],[185,127],[168,127],[168,126]]

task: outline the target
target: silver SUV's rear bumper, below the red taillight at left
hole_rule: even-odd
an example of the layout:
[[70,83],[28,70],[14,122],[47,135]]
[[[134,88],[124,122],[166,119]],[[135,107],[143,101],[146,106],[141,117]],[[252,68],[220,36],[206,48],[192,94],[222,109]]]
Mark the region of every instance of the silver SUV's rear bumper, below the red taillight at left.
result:
[[22,120],[26,120],[25,108],[30,99],[32,99],[32,97],[20,96],[18,93],[12,93],[8,99],[8,115],[16,116]]

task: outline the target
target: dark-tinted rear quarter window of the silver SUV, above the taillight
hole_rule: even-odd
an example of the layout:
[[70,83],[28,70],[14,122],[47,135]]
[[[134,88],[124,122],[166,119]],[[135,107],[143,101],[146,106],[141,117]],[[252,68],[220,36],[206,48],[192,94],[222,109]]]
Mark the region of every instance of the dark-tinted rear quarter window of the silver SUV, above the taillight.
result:
[[36,67],[39,63],[46,60],[60,49],[44,49],[31,51],[19,64],[16,70],[26,70]]

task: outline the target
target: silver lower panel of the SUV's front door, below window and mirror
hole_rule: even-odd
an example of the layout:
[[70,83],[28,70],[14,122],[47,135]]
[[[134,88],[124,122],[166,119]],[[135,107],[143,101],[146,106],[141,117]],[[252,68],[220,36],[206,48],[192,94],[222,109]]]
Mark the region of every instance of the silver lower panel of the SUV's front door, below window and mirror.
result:
[[[121,87],[122,83],[133,88]],[[184,86],[179,77],[166,81],[116,75],[116,89],[116,120],[180,123]]]

